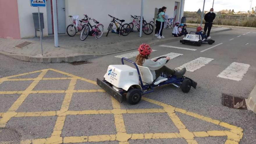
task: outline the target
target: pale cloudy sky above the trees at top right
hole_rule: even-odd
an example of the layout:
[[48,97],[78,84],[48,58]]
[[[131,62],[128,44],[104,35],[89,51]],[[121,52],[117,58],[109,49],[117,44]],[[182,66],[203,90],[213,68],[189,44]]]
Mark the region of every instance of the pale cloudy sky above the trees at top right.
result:
[[[251,0],[214,0],[214,11],[234,9],[234,12],[248,11]],[[252,0],[252,7],[256,6],[256,0]],[[205,10],[210,10],[213,0],[205,0]],[[185,0],[184,11],[197,11],[203,9],[204,0]],[[251,8],[250,8],[251,9]]]

